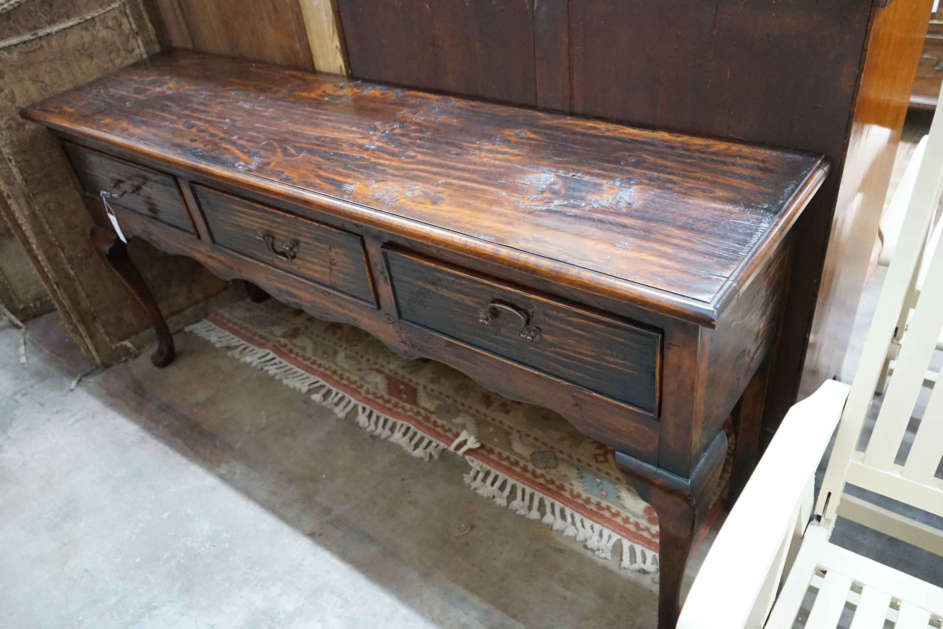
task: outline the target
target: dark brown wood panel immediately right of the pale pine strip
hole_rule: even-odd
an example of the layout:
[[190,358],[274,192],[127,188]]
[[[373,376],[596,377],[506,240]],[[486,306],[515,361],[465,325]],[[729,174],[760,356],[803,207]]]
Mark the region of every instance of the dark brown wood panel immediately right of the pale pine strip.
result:
[[534,105],[534,0],[339,0],[360,78]]

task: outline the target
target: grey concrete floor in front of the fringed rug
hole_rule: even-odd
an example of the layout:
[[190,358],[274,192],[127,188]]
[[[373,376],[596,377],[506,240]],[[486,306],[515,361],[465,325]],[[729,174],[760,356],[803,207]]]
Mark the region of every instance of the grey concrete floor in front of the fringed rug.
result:
[[[2,324],[0,324],[2,325]],[[652,627],[657,585],[178,334],[0,327],[0,627]],[[700,564],[706,545],[692,562]],[[692,572],[693,573],[693,572]]]

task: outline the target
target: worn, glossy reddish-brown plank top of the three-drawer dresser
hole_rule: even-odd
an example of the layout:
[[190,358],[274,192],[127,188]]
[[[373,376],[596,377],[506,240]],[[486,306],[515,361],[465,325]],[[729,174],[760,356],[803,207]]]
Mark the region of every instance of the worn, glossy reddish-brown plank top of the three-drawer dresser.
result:
[[828,170],[798,151],[184,51],[22,113],[708,325]]

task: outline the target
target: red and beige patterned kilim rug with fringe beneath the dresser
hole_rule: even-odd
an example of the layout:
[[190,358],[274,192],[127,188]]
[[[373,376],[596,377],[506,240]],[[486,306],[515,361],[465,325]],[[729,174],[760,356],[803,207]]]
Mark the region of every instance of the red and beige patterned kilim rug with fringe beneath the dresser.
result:
[[[463,455],[471,466],[465,483],[498,505],[553,526],[600,557],[617,557],[622,568],[658,570],[653,508],[622,480],[611,448],[554,412],[508,400],[441,363],[398,356],[352,325],[323,322],[273,299],[225,306],[187,329],[410,455]],[[721,488],[728,478],[725,469]]]

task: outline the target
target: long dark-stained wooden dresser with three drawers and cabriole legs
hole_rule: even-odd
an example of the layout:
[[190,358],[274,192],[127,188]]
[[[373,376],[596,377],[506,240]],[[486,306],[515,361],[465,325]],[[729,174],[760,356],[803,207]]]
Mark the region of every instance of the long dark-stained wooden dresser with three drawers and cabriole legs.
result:
[[553,409],[657,511],[674,626],[732,413],[751,470],[822,157],[182,51],[22,115],[58,135],[157,366],[174,341],[123,239]]

